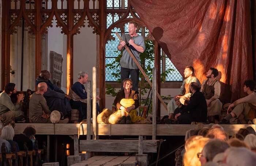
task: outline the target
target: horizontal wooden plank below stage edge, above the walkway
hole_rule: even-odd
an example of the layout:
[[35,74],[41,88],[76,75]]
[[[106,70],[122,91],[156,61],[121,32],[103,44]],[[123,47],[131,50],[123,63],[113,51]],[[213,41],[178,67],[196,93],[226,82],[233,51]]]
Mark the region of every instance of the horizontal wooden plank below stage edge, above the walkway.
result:
[[[143,140],[144,153],[157,152],[157,140]],[[138,152],[139,140],[80,140],[80,151]]]

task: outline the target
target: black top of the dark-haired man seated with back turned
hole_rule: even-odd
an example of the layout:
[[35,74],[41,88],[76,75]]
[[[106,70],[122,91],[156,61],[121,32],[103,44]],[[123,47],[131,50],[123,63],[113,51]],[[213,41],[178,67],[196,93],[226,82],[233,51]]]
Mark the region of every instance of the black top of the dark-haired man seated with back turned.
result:
[[206,123],[207,103],[202,92],[195,92],[188,101],[187,106],[182,105],[181,114],[189,112],[191,121]]

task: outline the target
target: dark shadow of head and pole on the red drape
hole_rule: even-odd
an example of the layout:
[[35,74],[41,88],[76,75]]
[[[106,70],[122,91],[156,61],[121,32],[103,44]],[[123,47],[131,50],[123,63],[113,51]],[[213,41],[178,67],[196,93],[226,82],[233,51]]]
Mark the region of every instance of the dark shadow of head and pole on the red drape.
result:
[[157,40],[158,44],[160,45],[160,47],[163,49],[163,51],[165,52],[165,54],[171,58],[171,54],[170,51],[166,45],[166,43],[161,42],[160,39],[163,36],[163,29],[161,27],[155,27],[152,31],[152,35],[155,38],[155,40]]

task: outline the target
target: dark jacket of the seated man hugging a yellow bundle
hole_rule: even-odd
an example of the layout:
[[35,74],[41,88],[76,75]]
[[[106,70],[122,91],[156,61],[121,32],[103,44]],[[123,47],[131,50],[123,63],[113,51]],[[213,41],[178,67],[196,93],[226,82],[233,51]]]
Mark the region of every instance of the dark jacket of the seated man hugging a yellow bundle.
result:
[[[124,89],[120,90],[117,95],[116,99],[114,100],[114,106],[116,106],[117,109],[119,109],[122,105],[120,104],[120,101],[122,99],[125,99],[125,93]],[[128,99],[133,99],[135,101],[135,109],[139,107],[139,94],[137,91],[130,90],[129,98]]]

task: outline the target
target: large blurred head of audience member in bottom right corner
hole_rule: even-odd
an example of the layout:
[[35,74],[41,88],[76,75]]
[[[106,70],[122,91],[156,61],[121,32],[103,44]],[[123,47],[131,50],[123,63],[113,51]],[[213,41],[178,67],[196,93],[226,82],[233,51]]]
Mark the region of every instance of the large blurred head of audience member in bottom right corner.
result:
[[255,166],[256,154],[244,147],[230,147],[224,153],[224,163],[230,166]]

